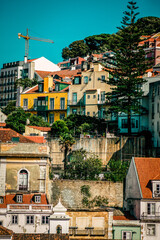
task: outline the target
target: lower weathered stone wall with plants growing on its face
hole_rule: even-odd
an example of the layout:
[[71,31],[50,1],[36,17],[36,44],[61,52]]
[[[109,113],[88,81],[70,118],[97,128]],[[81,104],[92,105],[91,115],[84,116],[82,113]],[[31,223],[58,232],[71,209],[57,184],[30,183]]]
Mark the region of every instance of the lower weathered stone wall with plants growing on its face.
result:
[[61,198],[66,208],[83,208],[81,187],[90,186],[91,199],[95,196],[108,198],[108,206],[122,207],[123,184],[109,181],[85,181],[85,180],[52,180],[48,182],[49,202],[56,205]]

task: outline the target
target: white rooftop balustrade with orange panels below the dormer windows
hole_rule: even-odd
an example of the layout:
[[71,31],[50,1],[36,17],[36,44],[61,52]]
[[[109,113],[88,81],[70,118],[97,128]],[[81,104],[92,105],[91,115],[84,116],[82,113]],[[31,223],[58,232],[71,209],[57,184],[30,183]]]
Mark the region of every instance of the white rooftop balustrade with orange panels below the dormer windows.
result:
[[49,204],[8,204],[8,211],[33,211],[40,212],[43,211],[52,211],[52,205]]

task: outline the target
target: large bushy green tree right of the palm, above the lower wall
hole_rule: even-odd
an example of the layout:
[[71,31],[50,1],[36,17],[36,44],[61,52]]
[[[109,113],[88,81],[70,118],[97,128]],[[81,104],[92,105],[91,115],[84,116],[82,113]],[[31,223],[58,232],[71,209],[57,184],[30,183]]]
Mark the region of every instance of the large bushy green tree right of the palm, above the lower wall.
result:
[[67,167],[69,179],[96,180],[102,172],[102,160],[94,154],[80,149],[73,152],[72,161]]

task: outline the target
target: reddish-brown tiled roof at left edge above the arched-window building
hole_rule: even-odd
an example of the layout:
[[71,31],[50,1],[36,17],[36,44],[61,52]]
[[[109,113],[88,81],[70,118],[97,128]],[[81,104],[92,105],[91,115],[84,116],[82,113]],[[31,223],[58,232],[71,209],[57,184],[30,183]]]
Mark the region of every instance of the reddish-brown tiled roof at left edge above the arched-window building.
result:
[[33,141],[27,139],[23,135],[17,133],[10,128],[0,128],[0,141],[1,142],[11,142],[12,138],[19,137],[20,143],[33,143]]

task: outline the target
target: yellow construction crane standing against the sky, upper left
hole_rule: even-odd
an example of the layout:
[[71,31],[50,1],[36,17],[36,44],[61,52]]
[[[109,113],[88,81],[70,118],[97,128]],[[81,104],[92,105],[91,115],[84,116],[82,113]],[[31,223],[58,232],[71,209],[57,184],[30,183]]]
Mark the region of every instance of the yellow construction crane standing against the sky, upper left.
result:
[[26,36],[21,34],[21,33],[18,33],[18,38],[20,39],[21,37],[23,37],[25,39],[25,56],[27,57],[28,59],[28,54],[29,54],[29,40],[36,40],[36,41],[42,41],[42,42],[49,42],[49,43],[53,43],[52,40],[49,40],[49,39],[44,39],[44,38],[37,38],[37,37],[30,37],[28,35],[28,28],[27,28],[27,34]]

